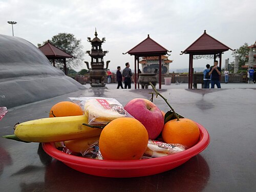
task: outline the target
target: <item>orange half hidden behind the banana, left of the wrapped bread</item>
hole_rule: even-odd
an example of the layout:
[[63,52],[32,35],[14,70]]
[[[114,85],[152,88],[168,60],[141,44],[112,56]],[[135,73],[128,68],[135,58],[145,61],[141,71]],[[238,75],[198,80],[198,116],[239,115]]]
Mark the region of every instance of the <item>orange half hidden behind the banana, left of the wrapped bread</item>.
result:
[[71,101],[61,101],[52,106],[49,117],[67,117],[83,115],[82,109]]

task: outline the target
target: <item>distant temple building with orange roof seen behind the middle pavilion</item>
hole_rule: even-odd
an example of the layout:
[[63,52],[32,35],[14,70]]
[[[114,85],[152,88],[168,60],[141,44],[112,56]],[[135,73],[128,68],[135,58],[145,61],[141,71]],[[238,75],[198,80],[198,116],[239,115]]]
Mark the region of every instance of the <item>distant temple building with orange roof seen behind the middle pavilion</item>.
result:
[[[169,60],[167,56],[161,56],[162,63],[162,74],[169,74],[169,63],[173,62],[173,60]],[[157,73],[159,74],[159,57],[142,57],[141,61],[142,73]]]

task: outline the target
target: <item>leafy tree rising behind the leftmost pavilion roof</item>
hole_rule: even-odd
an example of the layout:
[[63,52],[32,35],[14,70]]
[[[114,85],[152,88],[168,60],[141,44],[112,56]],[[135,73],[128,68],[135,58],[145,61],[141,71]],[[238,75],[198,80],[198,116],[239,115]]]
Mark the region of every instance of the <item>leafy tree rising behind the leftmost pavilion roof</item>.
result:
[[[71,33],[59,33],[54,35],[49,41],[52,45],[74,57],[67,58],[67,67],[74,68],[83,64],[84,51],[81,45],[81,39],[75,38],[75,36]],[[46,43],[47,41],[44,41],[42,45],[45,45]],[[41,44],[37,44],[37,46],[40,47]],[[63,67],[62,60],[56,60],[56,63],[59,68]]]

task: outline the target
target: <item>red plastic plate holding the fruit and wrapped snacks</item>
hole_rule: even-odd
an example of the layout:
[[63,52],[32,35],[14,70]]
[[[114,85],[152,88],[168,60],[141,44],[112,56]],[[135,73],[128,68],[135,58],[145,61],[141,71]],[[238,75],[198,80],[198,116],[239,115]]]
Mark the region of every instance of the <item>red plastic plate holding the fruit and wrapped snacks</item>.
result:
[[178,154],[152,159],[96,160],[63,153],[55,148],[54,143],[42,143],[42,147],[51,157],[82,173],[101,177],[142,177],[173,169],[202,152],[208,146],[210,136],[202,125],[197,124],[200,130],[200,139],[196,145]]

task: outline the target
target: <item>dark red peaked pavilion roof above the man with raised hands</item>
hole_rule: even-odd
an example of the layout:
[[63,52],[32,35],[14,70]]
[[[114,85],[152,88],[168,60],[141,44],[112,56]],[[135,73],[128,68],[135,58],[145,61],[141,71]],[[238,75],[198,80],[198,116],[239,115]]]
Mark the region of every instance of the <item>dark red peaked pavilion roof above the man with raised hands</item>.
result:
[[[222,42],[218,41],[214,37],[211,37],[206,33],[206,30],[204,30],[204,33],[195,41],[193,44],[191,44],[187,49],[183,51],[183,53],[216,53],[216,52],[223,52],[228,51],[230,48],[222,44]],[[232,49],[230,49],[232,50]]]

